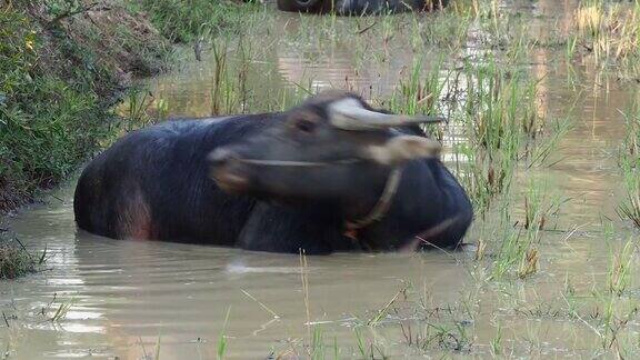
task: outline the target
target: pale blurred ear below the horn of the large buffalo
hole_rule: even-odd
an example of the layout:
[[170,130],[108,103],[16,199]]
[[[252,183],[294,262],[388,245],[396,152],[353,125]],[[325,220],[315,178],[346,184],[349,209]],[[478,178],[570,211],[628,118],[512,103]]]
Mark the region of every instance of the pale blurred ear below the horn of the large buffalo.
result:
[[438,158],[440,142],[417,136],[394,137],[380,146],[369,146],[364,156],[383,166],[399,166],[420,158]]

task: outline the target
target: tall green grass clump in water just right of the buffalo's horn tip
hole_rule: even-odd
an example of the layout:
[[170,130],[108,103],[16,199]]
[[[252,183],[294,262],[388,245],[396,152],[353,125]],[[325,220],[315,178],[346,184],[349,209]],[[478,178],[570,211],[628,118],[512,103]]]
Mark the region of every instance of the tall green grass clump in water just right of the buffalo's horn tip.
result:
[[458,150],[469,159],[469,172],[462,178],[483,213],[496,196],[509,190],[526,130],[536,129],[522,120],[536,116],[536,88],[508,74],[492,59],[480,66],[468,63],[466,73],[461,116],[469,142]]

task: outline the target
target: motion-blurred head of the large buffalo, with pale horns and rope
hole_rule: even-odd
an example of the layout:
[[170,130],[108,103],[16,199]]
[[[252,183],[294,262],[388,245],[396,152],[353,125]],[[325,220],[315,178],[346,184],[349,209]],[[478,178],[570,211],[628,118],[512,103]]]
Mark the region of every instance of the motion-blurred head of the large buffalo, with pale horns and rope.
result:
[[258,134],[214,150],[211,174],[229,192],[366,207],[392,168],[439,154],[440,143],[416,124],[441,120],[390,114],[351,93],[322,92],[276,114]]

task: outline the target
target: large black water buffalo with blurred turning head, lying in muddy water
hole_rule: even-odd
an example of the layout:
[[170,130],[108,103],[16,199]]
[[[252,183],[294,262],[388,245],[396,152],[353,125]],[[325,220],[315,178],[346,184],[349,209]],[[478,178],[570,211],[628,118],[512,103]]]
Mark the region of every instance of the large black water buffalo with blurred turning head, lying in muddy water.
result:
[[76,221],[110,238],[273,252],[454,248],[472,210],[416,124],[431,120],[328,91],[281,113],[161,123],[87,166]]

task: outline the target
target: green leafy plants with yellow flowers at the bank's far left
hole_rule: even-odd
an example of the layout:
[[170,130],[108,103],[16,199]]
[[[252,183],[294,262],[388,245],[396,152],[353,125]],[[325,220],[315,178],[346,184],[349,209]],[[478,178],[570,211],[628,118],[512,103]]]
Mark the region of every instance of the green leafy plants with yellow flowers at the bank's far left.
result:
[[88,130],[97,121],[97,97],[39,69],[42,44],[36,24],[23,11],[2,10],[0,186],[30,196],[60,180],[91,151]]

